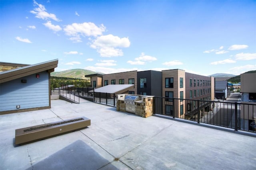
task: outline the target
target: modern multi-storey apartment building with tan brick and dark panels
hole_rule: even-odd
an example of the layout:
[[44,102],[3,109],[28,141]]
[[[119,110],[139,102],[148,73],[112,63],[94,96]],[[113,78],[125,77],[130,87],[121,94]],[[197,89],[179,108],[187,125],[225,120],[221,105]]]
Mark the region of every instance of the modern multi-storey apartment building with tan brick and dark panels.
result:
[[[103,74],[100,77],[99,74],[91,74],[86,77],[90,77],[92,87],[97,88],[98,84],[134,84],[134,88],[129,89],[129,94],[160,97],[158,104],[162,107],[159,111],[167,115],[193,117],[198,107],[206,111],[213,108],[212,103],[204,101],[214,100],[214,77],[192,74],[180,69],[162,72],[129,71]],[[162,97],[165,99],[162,100]],[[197,100],[202,100],[200,106],[197,106]]]

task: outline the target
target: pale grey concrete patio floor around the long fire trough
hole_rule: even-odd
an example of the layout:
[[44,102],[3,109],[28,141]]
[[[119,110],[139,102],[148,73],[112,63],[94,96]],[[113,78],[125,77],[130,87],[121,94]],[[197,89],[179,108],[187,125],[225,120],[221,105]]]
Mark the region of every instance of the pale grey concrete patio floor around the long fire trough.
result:
[[[80,99],[0,115],[1,170],[255,170],[256,138]],[[85,116],[80,131],[15,146],[15,129]],[[115,160],[116,158],[116,160]]]

